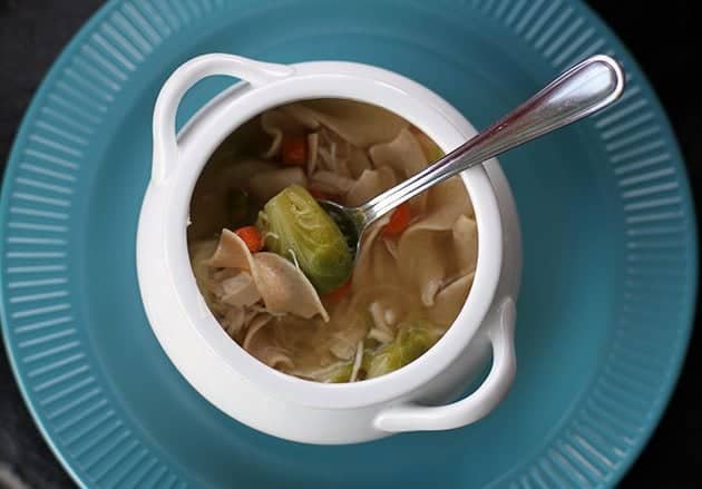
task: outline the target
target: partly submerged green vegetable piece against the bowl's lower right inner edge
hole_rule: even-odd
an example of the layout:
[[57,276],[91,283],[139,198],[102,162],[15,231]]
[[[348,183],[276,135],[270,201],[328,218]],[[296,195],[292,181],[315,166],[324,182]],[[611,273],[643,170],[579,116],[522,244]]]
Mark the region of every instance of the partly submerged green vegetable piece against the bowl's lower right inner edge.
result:
[[384,375],[417,360],[441,336],[441,333],[426,321],[404,321],[398,327],[398,335],[392,343],[363,356],[367,379]]

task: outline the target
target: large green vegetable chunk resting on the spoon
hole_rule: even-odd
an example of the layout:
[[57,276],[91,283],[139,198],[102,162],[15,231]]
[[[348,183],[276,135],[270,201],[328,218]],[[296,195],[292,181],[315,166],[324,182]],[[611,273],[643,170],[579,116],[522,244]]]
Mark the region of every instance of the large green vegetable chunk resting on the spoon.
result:
[[291,185],[271,198],[256,226],[265,247],[296,262],[320,294],[338,288],[351,276],[353,256],[347,239],[303,187]]

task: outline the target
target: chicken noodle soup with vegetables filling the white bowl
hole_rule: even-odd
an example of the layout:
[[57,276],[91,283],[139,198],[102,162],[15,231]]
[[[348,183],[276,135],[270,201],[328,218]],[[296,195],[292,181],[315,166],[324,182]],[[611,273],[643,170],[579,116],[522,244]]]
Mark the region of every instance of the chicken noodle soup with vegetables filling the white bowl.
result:
[[303,379],[397,370],[456,320],[472,284],[477,228],[450,178],[374,223],[357,262],[316,199],[359,205],[441,156],[376,106],[321,99],[265,111],[212,155],[191,203],[199,291],[224,331]]

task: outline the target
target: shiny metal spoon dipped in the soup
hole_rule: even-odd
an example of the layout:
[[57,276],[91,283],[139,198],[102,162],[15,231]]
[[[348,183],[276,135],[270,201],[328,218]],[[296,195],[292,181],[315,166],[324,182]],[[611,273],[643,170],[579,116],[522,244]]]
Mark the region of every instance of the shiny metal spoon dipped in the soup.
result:
[[608,56],[593,56],[425,170],[365,204],[347,207],[320,201],[320,205],[337,222],[358,256],[363,232],[398,205],[471,166],[607,107],[623,90],[620,65]]

